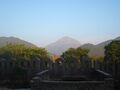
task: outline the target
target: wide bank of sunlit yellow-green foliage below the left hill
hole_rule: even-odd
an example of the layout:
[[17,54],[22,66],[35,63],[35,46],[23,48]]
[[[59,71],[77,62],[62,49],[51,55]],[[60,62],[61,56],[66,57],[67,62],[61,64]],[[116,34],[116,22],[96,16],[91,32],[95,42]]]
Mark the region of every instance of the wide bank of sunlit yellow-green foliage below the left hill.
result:
[[33,58],[48,58],[44,48],[31,48],[22,44],[7,44],[0,48],[0,58],[7,60],[32,60]]

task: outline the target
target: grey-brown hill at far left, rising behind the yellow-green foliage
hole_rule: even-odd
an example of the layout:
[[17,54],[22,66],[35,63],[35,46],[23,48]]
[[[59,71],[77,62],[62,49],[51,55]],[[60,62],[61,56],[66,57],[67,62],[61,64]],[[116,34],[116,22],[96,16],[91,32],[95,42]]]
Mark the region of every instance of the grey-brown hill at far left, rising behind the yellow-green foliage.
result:
[[13,44],[24,44],[28,47],[36,47],[34,44],[21,40],[16,37],[0,37],[0,47],[5,46],[7,43],[13,43]]

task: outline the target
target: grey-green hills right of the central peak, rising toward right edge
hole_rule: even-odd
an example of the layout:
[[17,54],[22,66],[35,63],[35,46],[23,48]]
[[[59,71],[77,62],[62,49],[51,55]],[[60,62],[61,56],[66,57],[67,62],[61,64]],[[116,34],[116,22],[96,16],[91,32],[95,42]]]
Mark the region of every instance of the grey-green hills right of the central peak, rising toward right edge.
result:
[[[120,37],[117,37],[113,40],[120,40]],[[90,50],[89,56],[104,56],[104,51],[105,51],[104,47],[108,45],[110,42],[112,42],[113,40],[107,40],[97,45],[84,44],[81,46],[81,48],[89,49]]]

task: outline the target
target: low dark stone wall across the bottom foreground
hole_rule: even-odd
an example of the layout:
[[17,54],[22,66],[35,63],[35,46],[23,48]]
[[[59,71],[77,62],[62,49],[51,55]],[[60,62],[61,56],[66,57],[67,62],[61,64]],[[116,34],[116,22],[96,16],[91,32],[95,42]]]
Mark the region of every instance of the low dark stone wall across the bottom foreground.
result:
[[111,78],[104,81],[51,81],[36,76],[31,80],[31,90],[114,90],[114,83]]

